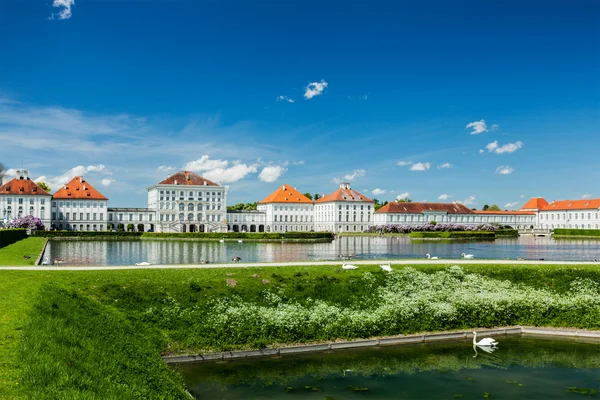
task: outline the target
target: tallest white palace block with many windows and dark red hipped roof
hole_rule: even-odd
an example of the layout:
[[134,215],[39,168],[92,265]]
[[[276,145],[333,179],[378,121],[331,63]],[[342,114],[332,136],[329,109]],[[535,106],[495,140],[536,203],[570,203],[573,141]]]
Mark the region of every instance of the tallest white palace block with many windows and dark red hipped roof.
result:
[[227,232],[227,190],[188,171],[150,186],[156,232]]

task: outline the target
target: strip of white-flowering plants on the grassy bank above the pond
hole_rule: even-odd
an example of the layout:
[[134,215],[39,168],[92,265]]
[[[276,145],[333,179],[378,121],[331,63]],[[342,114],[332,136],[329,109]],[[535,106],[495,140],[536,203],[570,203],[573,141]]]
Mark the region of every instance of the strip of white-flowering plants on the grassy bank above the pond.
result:
[[600,284],[589,278],[557,293],[452,266],[434,273],[410,267],[362,272],[356,283],[362,295],[346,305],[265,287],[256,301],[233,291],[185,307],[169,297],[141,318],[177,336],[183,333],[178,327],[189,327],[185,347],[221,350],[506,325],[600,328]]

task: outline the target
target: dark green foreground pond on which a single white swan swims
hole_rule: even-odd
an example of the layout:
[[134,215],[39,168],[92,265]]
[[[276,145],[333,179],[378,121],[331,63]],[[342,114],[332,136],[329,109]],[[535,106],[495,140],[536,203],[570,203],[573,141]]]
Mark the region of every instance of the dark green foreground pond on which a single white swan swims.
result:
[[197,399],[583,399],[600,397],[600,345],[500,337],[175,366]]

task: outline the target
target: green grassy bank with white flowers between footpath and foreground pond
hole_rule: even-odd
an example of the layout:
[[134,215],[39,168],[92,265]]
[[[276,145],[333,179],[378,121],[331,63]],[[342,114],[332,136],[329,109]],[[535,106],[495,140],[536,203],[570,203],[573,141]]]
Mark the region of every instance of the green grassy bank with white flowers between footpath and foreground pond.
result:
[[183,396],[161,353],[501,325],[600,329],[597,266],[392,267],[0,271],[2,394]]

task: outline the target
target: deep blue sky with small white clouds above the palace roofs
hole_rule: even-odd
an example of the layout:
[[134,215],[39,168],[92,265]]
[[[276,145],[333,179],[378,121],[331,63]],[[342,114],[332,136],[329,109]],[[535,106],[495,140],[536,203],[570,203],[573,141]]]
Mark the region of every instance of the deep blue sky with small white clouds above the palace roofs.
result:
[[599,15],[576,0],[0,0],[0,162],[54,190],[83,174],[115,207],[184,168],[230,204],[341,180],[476,208],[600,197]]

